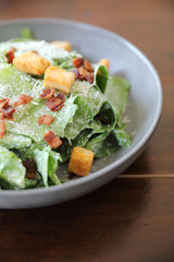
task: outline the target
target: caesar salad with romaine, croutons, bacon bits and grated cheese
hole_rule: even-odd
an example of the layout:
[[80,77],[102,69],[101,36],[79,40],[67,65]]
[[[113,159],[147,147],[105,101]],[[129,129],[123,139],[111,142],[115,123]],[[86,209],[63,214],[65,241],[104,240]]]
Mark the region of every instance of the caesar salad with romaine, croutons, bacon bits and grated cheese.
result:
[[0,43],[0,188],[59,186],[60,165],[87,176],[95,158],[128,147],[130,86],[109,60],[34,39],[29,28],[22,36]]

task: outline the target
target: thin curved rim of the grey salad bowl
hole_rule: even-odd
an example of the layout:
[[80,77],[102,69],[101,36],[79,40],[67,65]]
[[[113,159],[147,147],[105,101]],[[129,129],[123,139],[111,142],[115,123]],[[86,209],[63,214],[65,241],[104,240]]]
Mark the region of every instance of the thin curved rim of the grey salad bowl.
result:
[[147,58],[147,56],[140,51],[136,46],[134,46],[132,43],[129,43],[126,38],[122,37],[121,35],[117,35],[114,32],[111,32],[109,29],[102,28],[97,25],[92,25],[89,23],[78,22],[74,20],[65,20],[65,19],[55,19],[55,17],[28,17],[28,19],[12,19],[12,20],[3,20],[0,21],[0,27],[3,25],[14,25],[14,24],[22,24],[22,23],[63,23],[65,25],[73,25],[73,26],[80,26],[86,28],[94,28],[98,32],[104,32],[112,36],[116,41],[120,41],[124,46],[126,46],[130,51],[133,51],[137,57],[139,57],[140,60],[142,60],[146,66],[149,68],[150,72],[153,75],[157,92],[158,92],[158,104],[157,104],[157,111],[156,116],[153,118],[153,121],[150,126],[150,129],[145,134],[145,136],[135,145],[129,152],[127,152],[125,155],[123,155],[120,159],[114,160],[113,163],[109,164],[107,167],[103,167],[95,172],[92,172],[91,176],[82,177],[79,179],[71,180],[65,183],[59,184],[59,186],[51,186],[49,188],[37,188],[37,189],[23,189],[23,190],[0,190],[0,195],[8,195],[8,196],[24,196],[28,194],[40,194],[40,193],[50,193],[54,191],[64,191],[66,189],[72,189],[78,186],[82,186],[84,183],[88,183],[91,180],[96,180],[101,176],[104,176],[105,174],[110,172],[111,170],[114,170],[116,167],[121,166],[123,163],[127,162],[129,158],[132,158],[138,151],[140,151],[141,147],[147,143],[147,141],[150,139],[152,133],[154,132],[158,122],[160,120],[161,111],[162,111],[162,104],[163,104],[163,92],[162,92],[162,85],[160,81],[160,76],[153,66],[153,63]]

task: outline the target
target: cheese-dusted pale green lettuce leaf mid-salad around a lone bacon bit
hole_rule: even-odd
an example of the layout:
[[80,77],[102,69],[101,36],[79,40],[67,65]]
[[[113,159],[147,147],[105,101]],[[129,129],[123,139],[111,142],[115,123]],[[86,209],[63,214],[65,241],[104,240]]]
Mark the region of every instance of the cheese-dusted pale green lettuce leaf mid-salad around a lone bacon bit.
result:
[[[76,97],[66,98],[64,107],[59,111],[50,111],[42,100],[39,105],[26,105],[25,110],[13,114],[13,122],[7,122],[7,130],[32,138],[35,142],[40,142],[48,130],[52,130],[58,136],[64,136],[64,129],[73,120],[77,105],[74,104]],[[17,115],[18,114],[18,115]],[[50,126],[38,124],[38,118],[42,115],[52,115],[54,121]]]

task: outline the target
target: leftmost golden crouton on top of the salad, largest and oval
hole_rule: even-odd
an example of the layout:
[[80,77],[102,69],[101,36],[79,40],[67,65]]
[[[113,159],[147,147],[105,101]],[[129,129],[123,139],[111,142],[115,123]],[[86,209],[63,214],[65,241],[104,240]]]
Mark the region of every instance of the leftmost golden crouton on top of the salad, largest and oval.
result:
[[14,58],[13,64],[22,72],[41,75],[50,62],[34,51],[27,51]]

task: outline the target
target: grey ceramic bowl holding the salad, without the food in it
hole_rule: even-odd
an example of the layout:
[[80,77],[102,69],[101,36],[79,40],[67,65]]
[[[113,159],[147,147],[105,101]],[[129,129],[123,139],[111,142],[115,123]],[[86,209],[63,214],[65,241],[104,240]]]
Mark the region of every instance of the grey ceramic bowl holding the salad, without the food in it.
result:
[[135,131],[132,146],[114,155],[95,160],[91,174],[59,187],[22,191],[0,191],[0,207],[29,209],[65,202],[86,194],[123,172],[142,152],[153,133],[162,109],[162,87],[151,62],[135,46],[121,36],[88,24],[57,20],[29,19],[0,23],[0,41],[20,37],[29,26],[37,38],[48,41],[70,40],[74,49],[97,62],[105,57],[111,61],[111,73],[130,82],[127,117],[129,132]]

